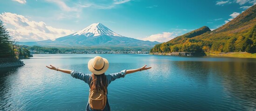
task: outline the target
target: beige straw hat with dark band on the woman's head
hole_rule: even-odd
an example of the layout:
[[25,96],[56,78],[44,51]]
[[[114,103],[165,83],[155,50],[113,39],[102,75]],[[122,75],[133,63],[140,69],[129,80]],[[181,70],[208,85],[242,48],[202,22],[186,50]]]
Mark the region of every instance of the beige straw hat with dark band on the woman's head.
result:
[[93,74],[104,74],[109,68],[109,62],[101,56],[96,56],[88,62],[88,68]]

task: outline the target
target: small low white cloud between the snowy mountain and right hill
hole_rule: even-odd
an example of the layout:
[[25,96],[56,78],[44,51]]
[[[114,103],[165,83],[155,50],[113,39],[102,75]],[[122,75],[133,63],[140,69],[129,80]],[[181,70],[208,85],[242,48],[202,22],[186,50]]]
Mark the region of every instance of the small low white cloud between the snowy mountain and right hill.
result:
[[141,40],[148,41],[157,41],[160,43],[167,42],[172,40],[175,36],[173,36],[173,32],[163,32],[163,34],[154,34],[149,37],[140,38]]

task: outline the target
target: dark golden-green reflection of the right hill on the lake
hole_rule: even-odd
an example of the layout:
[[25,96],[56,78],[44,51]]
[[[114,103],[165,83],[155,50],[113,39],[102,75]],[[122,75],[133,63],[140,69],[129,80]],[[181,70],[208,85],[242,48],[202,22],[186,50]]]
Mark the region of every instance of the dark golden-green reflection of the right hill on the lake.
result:
[[205,85],[214,81],[215,87],[220,87],[219,89],[226,92],[220,96],[229,102],[230,99],[233,100],[234,102],[231,104],[240,105],[241,110],[256,107],[256,62],[173,63],[181,69],[180,74],[186,76],[185,78],[188,80],[195,80],[197,83],[202,82]]

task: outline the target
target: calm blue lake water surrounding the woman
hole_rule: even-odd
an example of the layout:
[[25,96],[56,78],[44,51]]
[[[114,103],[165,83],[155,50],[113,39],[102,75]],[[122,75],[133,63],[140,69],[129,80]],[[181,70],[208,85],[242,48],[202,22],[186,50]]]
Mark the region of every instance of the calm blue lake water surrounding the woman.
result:
[[[34,55],[19,68],[0,69],[0,111],[84,111],[89,86],[46,65],[90,73],[98,55]],[[108,87],[112,111],[256,111],[256,59],[99,55],[106,74],[128,74]]]

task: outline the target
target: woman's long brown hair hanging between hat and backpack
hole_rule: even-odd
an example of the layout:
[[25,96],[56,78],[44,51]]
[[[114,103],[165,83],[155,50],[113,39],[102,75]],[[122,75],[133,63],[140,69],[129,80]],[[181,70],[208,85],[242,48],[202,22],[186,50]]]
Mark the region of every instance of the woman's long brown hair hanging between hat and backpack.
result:
[[[91,82],[90,82],[90,89],[91,90],[103,90],[104,92],[107,89],[107,78],[105,73],[96,75],[96,74],[91,74],[90,76]],[[106,92],[105,92],[106,93]]]

